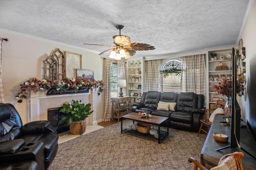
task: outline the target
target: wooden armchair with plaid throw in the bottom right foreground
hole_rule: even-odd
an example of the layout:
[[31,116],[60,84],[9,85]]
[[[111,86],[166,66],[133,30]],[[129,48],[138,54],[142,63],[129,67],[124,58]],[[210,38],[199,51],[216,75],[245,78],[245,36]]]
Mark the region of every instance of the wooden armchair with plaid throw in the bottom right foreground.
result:
[[[231,154],[226,154],[220,158],[218,166],[212,167],[210,170],[242,170],[242,158],[244,157],[243,152],[234,152]],[[194,163],[194,170],[200,168],[200,170],[208,170],[205,166],[203,166],[196,158],[190,157],[188,158],[188,162]]]

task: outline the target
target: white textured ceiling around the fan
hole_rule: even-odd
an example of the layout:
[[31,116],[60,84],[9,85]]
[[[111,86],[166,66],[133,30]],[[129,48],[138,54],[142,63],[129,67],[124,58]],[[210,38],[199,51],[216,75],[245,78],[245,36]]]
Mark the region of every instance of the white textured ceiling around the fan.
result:
[[[0,29],[101,53],[114,45],[115,25],[132,43],[171,55],[237,42],[249,0],[1,0]],[[8,38],[8,37],[6,37]]]

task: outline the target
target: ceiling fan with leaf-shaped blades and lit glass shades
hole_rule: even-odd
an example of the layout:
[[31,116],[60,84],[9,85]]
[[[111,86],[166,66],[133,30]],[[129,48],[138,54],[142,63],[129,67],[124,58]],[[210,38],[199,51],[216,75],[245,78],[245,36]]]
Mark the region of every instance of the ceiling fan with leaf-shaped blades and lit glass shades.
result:
[[147,50],[154,50],[155,47],[149,44],[144,43],[131,43],[130,37],[126,35],[121,35],[121,30],[124,29],[124,25],[116,25],[116,28],[119,30],[119,35],[114,35],[114,44],[115,45],[104,45],[104,44],[88,44],[87,45],[100,45],[100,46],[108,46],[114,47],[112,49],[108,49],[103,51],[99,55],[110,53],[110,58],[121,60],[121,58],[125,57],[125,59],[130,58],[131,56],[135,55],[136,51],[147,51]]

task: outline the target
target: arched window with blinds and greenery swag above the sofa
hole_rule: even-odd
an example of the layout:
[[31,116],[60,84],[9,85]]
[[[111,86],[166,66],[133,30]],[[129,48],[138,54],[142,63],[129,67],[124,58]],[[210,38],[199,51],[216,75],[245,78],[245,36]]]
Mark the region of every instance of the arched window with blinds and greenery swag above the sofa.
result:
[[164,70],[170,69],[181,70],[181,61],[179,59],[170,59],[162,65],[161,71],[161,92],[180,92],[181,90],[181,76],[176,72],[168,73],[168,76],[164,76]]

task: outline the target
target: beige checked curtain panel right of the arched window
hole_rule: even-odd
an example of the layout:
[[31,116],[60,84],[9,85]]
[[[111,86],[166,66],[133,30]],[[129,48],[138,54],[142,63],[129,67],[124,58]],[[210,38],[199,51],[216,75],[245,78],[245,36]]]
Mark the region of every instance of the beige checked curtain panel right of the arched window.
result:
[[206,97],[206,66],[204,55],[181,57],[181,91],[203,94]]

